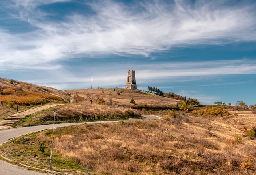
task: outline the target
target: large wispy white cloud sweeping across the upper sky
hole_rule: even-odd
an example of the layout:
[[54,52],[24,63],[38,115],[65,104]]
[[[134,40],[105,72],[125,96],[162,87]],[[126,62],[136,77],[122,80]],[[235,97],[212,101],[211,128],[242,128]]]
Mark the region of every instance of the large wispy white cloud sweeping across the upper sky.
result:
[[[50,66],[49,62],[81,56],[150,56],[151,52],[174,47],[256,40],[256,4],[228,6],[227,1],[217,0],[196,1],[191,5],[176,0],[170,4],[145,1],[127,6],[111,0],[84,1],[94,14],[73,13],[60,21],[48,20],[45,16],[54,14],[39,8],[64,1],[13,0],[3,3],[2,9],[6,8],[12,18],[26,21],[28,27],[36,29],[12,34],[1,30],[0,26],[0,40],[3,41],[0,43],[1,68],[40,65],[44,69],[46,65]],[[248,68],[243,70],[253,72]],[[208,72],[204,72],[214,74],[213,71],[208,69]],[[218,71],[232,72],[234,69]],[[186,70],[180,74],[189,72]],[[164,75],[164,72],[159,74]]]

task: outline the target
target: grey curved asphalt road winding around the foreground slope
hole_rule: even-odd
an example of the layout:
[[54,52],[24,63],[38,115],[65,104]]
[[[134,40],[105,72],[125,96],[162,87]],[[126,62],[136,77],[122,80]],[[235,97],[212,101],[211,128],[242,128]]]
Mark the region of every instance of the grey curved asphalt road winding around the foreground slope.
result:
[[[130,119],[124,121],[134,121],[134,120],[148,120],[148,119],[159,119],[160,117],[154,115],[142,115],[145,117],[144,119]],[[92,121],[87,123],[109,123],[109,122],[118,122],[118,121]],[[64,127],[64,126],[71,126],[71,125],[81,125],[83,123],[60,123],[55,124],[55,128],[57,127]],[[39,126],[31,126],[31,127],[18,127],[18,128],[11,128],[11,129],[2,129],[0,130],[0,144],[14,138],[19,137],[28,133],[42,131],[45,129],[52,129],[51,125],[39,125]],[[50,161],[50,157],[49,157]],[[0,175],[45,175],[45,173],[38,173],[36,171],[30,171],[24,169],[22,167],[9,164],[5,161],[0,161]]]

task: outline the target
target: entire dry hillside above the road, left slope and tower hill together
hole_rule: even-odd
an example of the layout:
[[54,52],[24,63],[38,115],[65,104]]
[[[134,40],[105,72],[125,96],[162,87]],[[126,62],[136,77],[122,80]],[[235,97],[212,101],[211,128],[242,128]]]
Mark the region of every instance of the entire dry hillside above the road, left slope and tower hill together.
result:
[[[92,97],[92,101],[88,97]],[[69,103],[70,98],[72,103]],[[134,99],[136,105],[130,103],[131,99]],[[168,109],[180,102],[176,99],[130,89],[60,91],[51,87],[4,78],[0,78],[0,101],[4,102],[0,111],[0,120],[16,113],[17,107],[18,112],[21,112],[48,103],[64,103],[66,101],[68,102],[66,105],[58,107],[57,122],[141,117],[140,111],[130,109],[130,107]],[[28,115],[12,126],[47,123],[52,121],[52,117],[52,109],[46,109]]]

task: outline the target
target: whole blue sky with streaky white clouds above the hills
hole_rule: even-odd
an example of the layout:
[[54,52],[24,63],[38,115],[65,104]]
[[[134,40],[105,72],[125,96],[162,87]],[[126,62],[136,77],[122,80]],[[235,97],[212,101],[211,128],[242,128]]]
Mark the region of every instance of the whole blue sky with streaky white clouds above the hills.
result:
[[0,77],[256,103],[255,0],[1,0]]

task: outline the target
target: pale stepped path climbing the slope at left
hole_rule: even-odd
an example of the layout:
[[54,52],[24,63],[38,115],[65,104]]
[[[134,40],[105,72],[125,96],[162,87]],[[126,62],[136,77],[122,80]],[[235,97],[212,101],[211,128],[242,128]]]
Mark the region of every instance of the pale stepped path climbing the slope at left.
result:
[[48,109],[50,107],[56,107],[58,105],[64,105],[64,104],[45,105],[45,106],[29,109],[27,111],[23,111],[23,112],[20,112],[20,113],[15,113],[15,114],[11,115],[10,117],[7,117],[6,119],[0,121],[0,129],[6,129],[6,128],[11,127],[12,124],[14,124],[17,121],[23,119],[27,115],[34,114],[36,112],[42,111],[44,109]]

